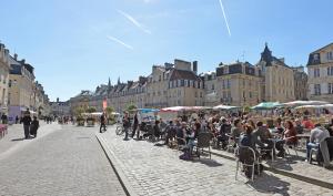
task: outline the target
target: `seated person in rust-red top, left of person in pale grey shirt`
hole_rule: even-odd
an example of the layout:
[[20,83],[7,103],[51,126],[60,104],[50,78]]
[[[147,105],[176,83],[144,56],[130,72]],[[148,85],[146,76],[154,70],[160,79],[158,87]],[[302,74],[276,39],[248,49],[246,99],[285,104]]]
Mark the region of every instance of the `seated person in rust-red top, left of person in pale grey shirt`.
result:
[[285,131],[283,132],[283,138],[276,141],[275,147],[279,151],[276,156],[279,157],[284,157],[285,149],[284,149],[284,144],[286,145],[296,145],[297,144],[297,132],[291,121],[285,122]]

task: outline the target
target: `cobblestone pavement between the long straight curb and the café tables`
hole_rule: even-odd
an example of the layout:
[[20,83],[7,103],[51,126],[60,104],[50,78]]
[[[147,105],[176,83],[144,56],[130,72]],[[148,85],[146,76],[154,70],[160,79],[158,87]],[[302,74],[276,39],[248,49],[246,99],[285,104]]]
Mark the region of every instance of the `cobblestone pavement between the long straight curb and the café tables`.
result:
[[333,190],[265,172],[254,183],[235,180],[235,163],[218,156],[185,162],[180,152],[145,141],[123,141],[114,127],[98,136],[138,195],[333,195]]

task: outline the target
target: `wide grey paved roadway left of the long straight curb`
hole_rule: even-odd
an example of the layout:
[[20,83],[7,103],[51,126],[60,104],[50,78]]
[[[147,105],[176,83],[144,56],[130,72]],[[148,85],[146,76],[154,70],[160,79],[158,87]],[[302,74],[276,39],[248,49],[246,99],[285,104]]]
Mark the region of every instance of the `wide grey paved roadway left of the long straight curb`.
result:
[[95,131],[64,125],[18,147],[0,159],[0,195],[125,195]]

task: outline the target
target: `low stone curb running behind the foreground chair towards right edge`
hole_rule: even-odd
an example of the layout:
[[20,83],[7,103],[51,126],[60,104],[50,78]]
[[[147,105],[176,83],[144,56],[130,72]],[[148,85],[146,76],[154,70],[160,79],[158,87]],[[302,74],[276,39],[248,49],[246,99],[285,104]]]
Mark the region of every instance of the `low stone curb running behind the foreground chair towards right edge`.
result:
[[[208,151],[204,151],[204,152],[209,153]],[[214,152],[211,152],[211,154],[215,155],[215,156],[220,156],[222,158],[230,159],[230,161],[235,161],[235,158],[233,156],[228,156],[228,155],[223,155],[223,154],[219,154],[219,153],[214,153]],[[307,177],[307,176],[302,176],[302,175],[291,173],[291,172],[286,172],[286,171],[282,171],[282,169],[278,169],[278,168],[271,167],[268,164],[262,164],[262,165],[263,165],[265,171],[270,171],[274,174],[280,174],[280,175],[291,177],[291,178],[294,178],[294,179],[299,179],[299,180],[302,180],[302,182],[305,182],[305,183],[309,183],[309,184],[312,184],[312,185],[316,185],[316,186],[321,186],[321,187],[324,187],[324,188],[333,189],[333,183],[320,180],[320,179]]]

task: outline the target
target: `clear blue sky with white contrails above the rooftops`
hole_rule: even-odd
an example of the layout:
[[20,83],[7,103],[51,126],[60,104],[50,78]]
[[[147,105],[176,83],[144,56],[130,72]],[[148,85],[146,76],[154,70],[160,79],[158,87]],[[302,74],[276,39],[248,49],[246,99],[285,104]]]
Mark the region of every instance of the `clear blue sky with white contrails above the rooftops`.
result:
[[[333,42],[332,0],[10,0],[0,40],[36,68],[51,100],[68,100],[111,78],[148,75],[152,64],[256,63],[268,42],[290,65]],[[243,56],[244,54],[244,56]]]

